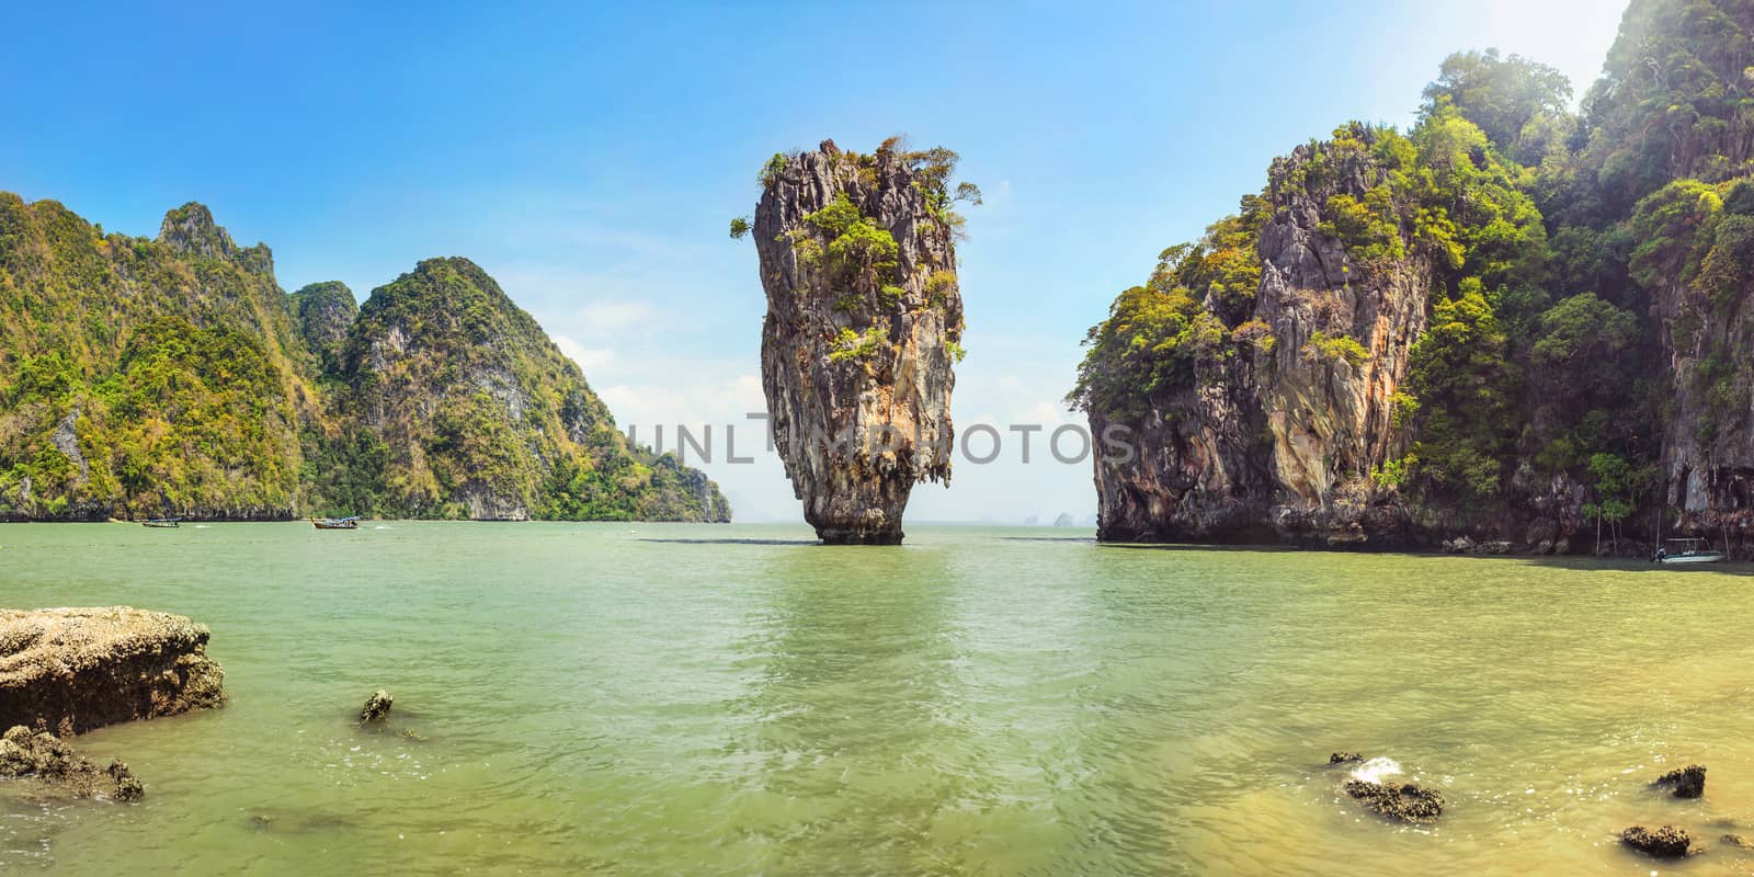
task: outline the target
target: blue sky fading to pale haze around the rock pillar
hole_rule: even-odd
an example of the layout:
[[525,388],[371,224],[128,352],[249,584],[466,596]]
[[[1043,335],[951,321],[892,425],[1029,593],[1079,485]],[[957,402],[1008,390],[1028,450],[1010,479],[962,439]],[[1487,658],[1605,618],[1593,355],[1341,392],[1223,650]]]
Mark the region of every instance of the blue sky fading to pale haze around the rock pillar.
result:
[[[956,421],[1052,428],[1075,419],[1058,400],[1084,330],[1275,154],[1352,118],[1408,123],[1456,49],[1528,54],[1582,93],[1624,9],[103,5],[7,12],[0,189],[137,235],[205,202],[274,247],[288,289],[339,279],[363,298],[421,258],[468,256],[642,430],[763,407],[756,254],[724,230],[775,151],[896,132],[959,151],[988,198],[959,249]],[[1000,461],[959,463],[909,517],[1093,514],[1089,467],[1033,451],[1023,465],[1012,437]],[[707,470],[740,519],[796,519],[756,456]]]

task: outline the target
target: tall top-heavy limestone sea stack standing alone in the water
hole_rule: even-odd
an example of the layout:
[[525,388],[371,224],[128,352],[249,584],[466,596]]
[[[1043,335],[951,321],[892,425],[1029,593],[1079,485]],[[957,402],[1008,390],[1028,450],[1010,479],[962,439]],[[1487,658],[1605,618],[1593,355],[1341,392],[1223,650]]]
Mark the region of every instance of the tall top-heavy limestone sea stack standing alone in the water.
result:
[[[761,386],[774,444],[828,544],[895,545],[914,484],[951,479],[961,358],[956,153],[824,140],[761,172],[756,251],[768,312]],[[731,223],[733,237],[749,232]]]

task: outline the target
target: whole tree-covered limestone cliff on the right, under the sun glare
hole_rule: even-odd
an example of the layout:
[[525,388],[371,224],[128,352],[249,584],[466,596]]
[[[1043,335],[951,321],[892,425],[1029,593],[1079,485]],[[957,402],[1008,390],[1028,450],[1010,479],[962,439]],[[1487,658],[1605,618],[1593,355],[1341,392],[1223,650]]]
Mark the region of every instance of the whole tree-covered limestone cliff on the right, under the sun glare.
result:
[[1100,538],[1643,553],[1754,526],[1754,11],[1636,0],[1580,112],[1454,54],[1089,330]]

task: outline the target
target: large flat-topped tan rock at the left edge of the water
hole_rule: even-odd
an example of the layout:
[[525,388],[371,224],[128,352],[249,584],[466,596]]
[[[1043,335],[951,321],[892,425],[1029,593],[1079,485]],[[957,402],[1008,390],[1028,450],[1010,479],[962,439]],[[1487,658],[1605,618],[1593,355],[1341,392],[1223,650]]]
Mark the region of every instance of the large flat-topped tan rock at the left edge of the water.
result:
[[61,737],[225,703],[207,626],[130,607],[0,610],[0,726]]

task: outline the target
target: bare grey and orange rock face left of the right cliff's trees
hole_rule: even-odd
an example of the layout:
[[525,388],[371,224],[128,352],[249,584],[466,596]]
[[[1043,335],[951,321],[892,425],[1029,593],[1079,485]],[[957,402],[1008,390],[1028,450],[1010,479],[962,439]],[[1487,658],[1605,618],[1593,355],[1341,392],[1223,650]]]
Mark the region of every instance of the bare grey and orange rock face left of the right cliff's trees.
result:
[[[1130,430],[1135,454],[1096,460],[1100,538],[1352,542],[1400,526],[1370,472],[1408,444],[1393,400],[1426,328],[1431,270],[1422,254],[1366,267],[1323,230],[1333,198],[1365,200],[1387,177],[1373,132],[1356,133],[1365,149],[1305,146],[1275,161],[1251,202],[1252,253],[1237,254],[1258,272],[1252,302],[1235,284],[1198,302],[1219,349],[1189,356],[1189,379],[1151,396],[1145,416],[1091,409],[1093,431]],[[1214,319],[1226,312],[1230,326]]]

